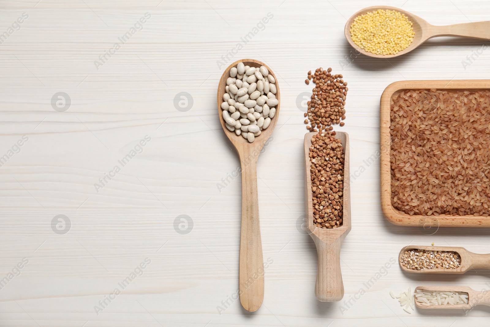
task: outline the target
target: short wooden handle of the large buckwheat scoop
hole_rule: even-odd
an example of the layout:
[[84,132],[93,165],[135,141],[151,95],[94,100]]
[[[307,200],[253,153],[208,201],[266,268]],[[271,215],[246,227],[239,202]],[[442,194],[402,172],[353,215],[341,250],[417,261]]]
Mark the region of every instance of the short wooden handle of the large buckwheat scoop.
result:
[[318,252],[317,283],[315,295],[321,302],[335,302],[343,298],[343,281],[340,270],[341,242],[325,244],[315,241]]

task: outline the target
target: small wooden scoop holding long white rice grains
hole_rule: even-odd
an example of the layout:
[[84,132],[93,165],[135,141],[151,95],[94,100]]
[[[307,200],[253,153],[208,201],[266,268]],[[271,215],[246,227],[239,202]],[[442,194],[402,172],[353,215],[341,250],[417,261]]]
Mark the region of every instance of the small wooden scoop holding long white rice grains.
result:
[[441,292],[465,292],[468,293],[468,304],[442,304],[442,305],[422,305],[417,300],[415,305],[419,309],[471,309],[475,305],[483,304],[490,306],[490,291],[478,292],[470,287],[464,286],[418,286],[417,290],[441,291]]

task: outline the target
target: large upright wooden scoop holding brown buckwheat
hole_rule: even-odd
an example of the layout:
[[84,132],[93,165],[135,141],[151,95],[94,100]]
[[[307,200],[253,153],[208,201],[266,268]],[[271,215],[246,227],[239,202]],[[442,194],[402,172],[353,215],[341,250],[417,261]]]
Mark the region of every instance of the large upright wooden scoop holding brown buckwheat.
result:
[[321,302],[335,302],[343,298],[342,272],[340,270],[340,248],[342,241],[350,231],[350,188],[349,188],[349,135],[345,132],[337,132],[335,137],[342,141],[344,149],[343,171],[343,217],[342,226],[337,228],[318,228],[313,223],[313,199],[311,195],[310,173],[310,147],[311,138],[318,134],[311,132],[305,134],[305,201],[306,218],[308,221],[308,233],[315,241],[318,252],[318,272],[315,285],[315,295]]

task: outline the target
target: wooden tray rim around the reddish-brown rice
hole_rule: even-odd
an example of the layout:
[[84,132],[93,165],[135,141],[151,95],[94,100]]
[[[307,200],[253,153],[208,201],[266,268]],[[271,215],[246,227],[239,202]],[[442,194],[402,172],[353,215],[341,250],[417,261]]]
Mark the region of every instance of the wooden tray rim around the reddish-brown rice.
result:
[[402,90],[482,90],[490,89],[490,80],[407,80],[394,82],[385,89],[380,101],[380,147],[381,147],[381,208],[386,219],[395,225],[424,227],[490,227],[490,217],[482,216],[410,216],[392,206],[391,188],[391,104],[392,96]]

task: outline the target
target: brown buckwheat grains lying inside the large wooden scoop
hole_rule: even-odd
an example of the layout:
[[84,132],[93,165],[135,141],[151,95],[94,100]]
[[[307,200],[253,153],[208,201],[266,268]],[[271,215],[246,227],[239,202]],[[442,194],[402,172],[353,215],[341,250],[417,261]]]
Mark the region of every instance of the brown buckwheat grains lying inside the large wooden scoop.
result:
[[342,226],[344,149],[335,131],[312,137],[310,175],[313,222],[319,228]]

